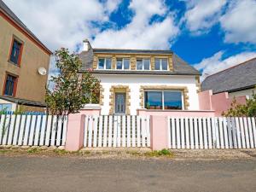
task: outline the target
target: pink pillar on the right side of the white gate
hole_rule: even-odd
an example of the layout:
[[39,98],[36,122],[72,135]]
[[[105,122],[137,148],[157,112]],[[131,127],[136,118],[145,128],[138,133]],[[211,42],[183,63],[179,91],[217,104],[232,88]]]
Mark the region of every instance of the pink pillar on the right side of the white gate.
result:
[[168,119],[166,116],[150,116],[150,143],[152,150],[168,148]]

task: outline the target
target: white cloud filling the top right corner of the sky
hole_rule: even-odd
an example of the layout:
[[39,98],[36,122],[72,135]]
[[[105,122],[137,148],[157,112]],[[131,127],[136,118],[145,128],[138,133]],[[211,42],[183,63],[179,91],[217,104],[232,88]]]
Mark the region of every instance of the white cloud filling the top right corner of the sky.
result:
[[256,1],[233,1],[220,23],[225,32],[225,42],[256,44]]

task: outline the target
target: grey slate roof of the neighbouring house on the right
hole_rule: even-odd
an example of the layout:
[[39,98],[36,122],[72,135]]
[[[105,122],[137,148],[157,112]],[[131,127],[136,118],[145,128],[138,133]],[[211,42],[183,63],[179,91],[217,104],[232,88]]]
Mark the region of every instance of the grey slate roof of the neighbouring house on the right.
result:
[[224,71],[208,76],[201,83],[201,90],[213,93],[251,89],[256,85],[256,57]]

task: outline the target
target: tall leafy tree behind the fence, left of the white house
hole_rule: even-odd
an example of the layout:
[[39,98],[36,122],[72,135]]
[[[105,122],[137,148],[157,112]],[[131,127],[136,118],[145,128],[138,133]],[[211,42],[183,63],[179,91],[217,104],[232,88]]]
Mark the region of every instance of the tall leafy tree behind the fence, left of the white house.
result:
[[51,76],[54,89],[47,88],[45,102],[52,114],[79,113],[86,103],[99,102],[100,82],[88,71],[81,71],[79,55],[68,49],[55,51],[55,66],[59,74]]

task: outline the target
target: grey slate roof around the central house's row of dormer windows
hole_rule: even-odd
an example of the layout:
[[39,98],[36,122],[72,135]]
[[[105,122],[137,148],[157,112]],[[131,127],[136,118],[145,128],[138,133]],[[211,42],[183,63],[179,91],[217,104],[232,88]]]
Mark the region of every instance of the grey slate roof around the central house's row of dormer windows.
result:
[[82,60],[82,70],[92,68],[94,53],[106,53],[106,54],[145,54],[145,55],[170,55],[172,54],[172,64],[174,71],[136,71],[136,70],[95,70],[93,73],[108,73],[108,74],[183,74],[183,75],[200,75],[194,67],[190,66],[186,61],[183,61],[177,55],[173,54],[172,50],[150,50],[150,49],[92,49],[85,52],[82,51],[79,56]]

